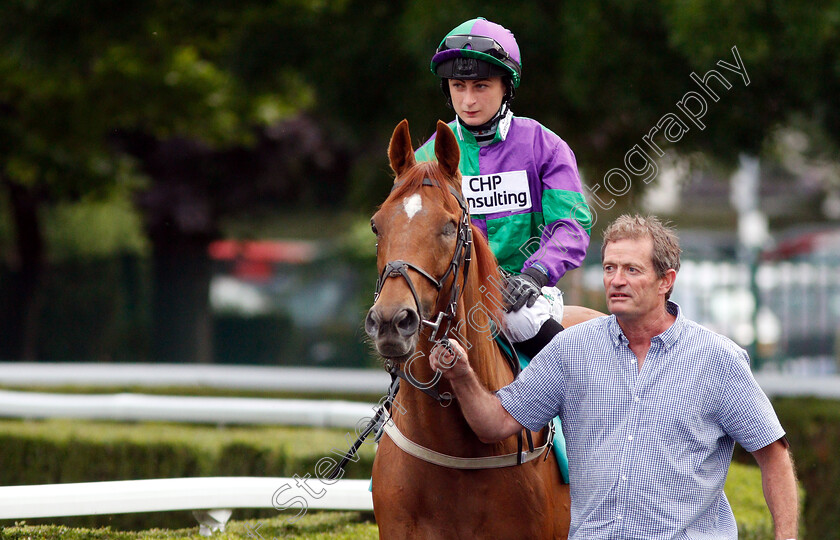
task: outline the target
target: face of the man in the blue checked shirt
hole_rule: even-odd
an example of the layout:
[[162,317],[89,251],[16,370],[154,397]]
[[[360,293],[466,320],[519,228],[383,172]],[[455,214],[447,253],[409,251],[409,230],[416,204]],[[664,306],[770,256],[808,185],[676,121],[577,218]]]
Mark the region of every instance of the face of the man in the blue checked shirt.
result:
[[668,276],[653,268],[653,240],[610,242],[604,248],[604,291],[607,308],[621,320],[639,320],[665,304]]

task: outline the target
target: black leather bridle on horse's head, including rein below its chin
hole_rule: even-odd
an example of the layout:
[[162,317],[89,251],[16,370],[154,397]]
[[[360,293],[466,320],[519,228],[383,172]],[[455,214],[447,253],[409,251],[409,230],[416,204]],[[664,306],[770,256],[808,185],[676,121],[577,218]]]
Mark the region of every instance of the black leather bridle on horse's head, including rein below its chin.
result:
[[[400,185],[401,183],[395,183],[391,191],[393,191]],[[438,182],[429,178],[424,178],[422,185],[440,187],[440,184]],[[466,287],[467,275],[470,269],[470,260],[472,258],[472,229],[470,229],[470,213],[467,207],[467,203],[464,200],[464,196],[461,193],[459,193],[452,186],[448,187],[449,192],[455,197],[455,200],[458,201],[458,206],[461,207],[461,219],[458,223],[458,238],[455,242],[455,250],[452,253],[452,259],[449,261],[449,266],[446,268],[446,271],[440,278],[436,278],[432,274],[430,274],[429,272],[412,262],[403,260],[389,261],[385,264],[385,267],[382,269],[382,273],[379,275],[379,279],[376,280],[376,289],[373,293],[373,301],[374,303],[376,303],[376,301],[379,299],[379,294],[382,292],[382,287],[385,285],[385,282],[389,278],[402,277],[408,285],[408,288],[411,291],[411,295],[414,297],[414,303],[417,306],[417,313],[422,317],[423,308],[420,304],[420,296],[417,294],[417,289],[414,286],[414,282],[411,279],[411,275],[409,275],[408,273],[409,269],[417,272],[418,274],[429,280],[432,283],[432,285],[434,285],[435,289],[437,289],[438,294],[440,294],[440,291],[443,290],[447,279],[450,276],[452,276],[452,287],[450,289],[449,301],[446,305],[446,309],[439,311],[435,320],[422,319],[422,324],[432,329],[432,333],[429,336],[429,340],[436,344],[441,344],[445,347],[449,347],[449,342],[446,335],[449,332],[449,329],[452,327],[452,321],[455,320],[456,311],[458,309],[458,300],[460,299],[461,294],[463,293],[464,288]],[[458,286],[459,274],[461,275],[461,287]],[[432,398],[441,402],[441,404],[449,405],[449,403],[451,403],[451,394],[449,394],[448,392],[444,392],[443,394],[441,394],[437,390],[437,382],[439,381],[439,375],[434,381],[435,388],[429,388],[428,385],[419,383],[418,381],[414,380],[414,378],[410,374],[406,374],[405,372],[403,372],[394,362],[386,360],[385,367],[388,370],[388,372],[391,373],[392,376],[407,380],[413,386],[417,387]]]

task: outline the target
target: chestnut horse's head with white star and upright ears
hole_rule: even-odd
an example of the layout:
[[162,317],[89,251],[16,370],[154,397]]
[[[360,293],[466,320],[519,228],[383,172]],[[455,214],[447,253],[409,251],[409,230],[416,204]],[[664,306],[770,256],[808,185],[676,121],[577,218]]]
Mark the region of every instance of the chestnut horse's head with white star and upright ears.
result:
[[451,323],[471,250],[460,152],[443,122],[434,148],[436,162],[416,162],[408,122],[397,126],[388,147],[394,187],[371,219],[380,277],[365,331],[379,354],[397,362],[411,356],[424,326]]

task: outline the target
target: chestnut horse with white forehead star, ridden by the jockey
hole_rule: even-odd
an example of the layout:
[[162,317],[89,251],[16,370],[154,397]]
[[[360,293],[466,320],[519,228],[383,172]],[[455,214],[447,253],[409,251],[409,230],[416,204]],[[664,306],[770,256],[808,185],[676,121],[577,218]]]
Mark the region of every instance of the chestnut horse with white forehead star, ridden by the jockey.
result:
[[[389,371],[412,383],[394,399],[374,459],[380,538],[566,538],[569,486],[545,448],[551,434],[526,432],[525,452],[517,436],[482,443],[429,366],[431,349],[451,337],[491,391],[511,382],[516,369],[494,339],[502,278],[469,223],[460,151],[441,121],[434,151],[437,161],[417,162],[408,122],[396,127],[388,146],[394,186],[371,219],[380,278],[365,331]],[[567,306],[562,324],[600,315]]]

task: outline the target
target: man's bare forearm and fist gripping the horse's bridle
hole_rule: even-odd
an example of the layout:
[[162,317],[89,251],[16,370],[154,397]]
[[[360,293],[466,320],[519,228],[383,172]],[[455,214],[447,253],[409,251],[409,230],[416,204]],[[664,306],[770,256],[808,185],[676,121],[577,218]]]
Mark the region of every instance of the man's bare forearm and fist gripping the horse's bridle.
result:
[[481,442],[501,441],[524,429],[478,380],[463,347],[457,341],[450,343],[451,350],[446,347],[432,349],[429,364],[433,370],[440,370],[452,385],[464,418]]

